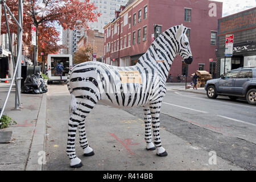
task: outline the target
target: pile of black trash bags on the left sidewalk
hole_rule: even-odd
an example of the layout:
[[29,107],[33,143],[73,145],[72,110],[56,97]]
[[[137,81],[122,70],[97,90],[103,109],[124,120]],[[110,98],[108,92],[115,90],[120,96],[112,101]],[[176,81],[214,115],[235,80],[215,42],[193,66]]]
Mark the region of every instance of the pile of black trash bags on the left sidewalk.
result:
[[42,75],[28,75],[22,87],[22,93],[42,94],[48,91],[47,84],[44,82]]

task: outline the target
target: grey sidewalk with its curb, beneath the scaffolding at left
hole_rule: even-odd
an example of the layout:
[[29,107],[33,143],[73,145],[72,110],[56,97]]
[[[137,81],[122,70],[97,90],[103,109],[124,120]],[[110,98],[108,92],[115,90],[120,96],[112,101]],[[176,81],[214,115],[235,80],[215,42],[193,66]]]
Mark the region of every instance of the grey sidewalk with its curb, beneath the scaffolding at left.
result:
[[[0,82],[0,107],[3,106],[10,83]],[[0,143],[1,170],[42,170],[38,164],[39,151],[45,149],[46,93],[21,94],[22,110],[13,110],[15,86],[11,90],[4,114],[16,125],[0,131],[13,131],[10,143]]]

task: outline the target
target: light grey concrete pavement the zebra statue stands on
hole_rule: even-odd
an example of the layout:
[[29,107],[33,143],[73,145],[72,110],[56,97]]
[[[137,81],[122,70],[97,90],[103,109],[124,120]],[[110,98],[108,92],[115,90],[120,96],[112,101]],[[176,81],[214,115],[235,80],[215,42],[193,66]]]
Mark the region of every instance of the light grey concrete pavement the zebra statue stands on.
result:
[[193,146],[164,127],[160,128],[160,135],[168,156],[160,158],[156,151],[145,149],[143,114],[137,117],[102,104],[97,104],[86,117],[86,134],[95,155],[82,155],[77,136],[76,152],[84,166],[72,169],[65,154],[70,95],[65,85],[49,86],[46,170],[243,170],[218,156],[216,164],[209,162],[214,151]]

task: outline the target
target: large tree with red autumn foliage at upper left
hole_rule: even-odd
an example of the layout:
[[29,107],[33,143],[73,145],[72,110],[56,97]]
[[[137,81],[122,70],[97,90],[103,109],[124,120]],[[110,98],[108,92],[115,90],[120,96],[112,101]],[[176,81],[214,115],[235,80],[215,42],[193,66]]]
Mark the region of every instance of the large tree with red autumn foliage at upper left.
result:
[[[59,40],[54,24],[57,23],[65,29],[88,28],[88,22],[97,21],[99,13],[94,13],[97,7],[89,0],[23,0],[23,42],[31,45],[31,24],[36,26],[38,46],[53,52],[60,48],[55,43]],[[6,1],[7,6],[18,19],[18,0]],[[2,13],[2,19],[3,13]],[[13,19],[10,19],[10,30],[15,32],[17,26]],[[1,31],[6,33],[6,24],[2,20]],[[51,40],[51,42],[49,42]],[[54,43],[55,42],[55,43]],[[39,48],[40,49],[40,48]]]

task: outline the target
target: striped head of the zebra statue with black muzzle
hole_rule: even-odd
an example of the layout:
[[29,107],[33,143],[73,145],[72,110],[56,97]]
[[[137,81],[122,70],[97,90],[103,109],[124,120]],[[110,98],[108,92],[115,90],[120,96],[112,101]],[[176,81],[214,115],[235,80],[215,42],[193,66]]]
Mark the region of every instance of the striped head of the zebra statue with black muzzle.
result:
[[183,24],[179,26],[175,38],[177,39],[177,42],[179,42],[179,55],[184,59],[186,64],[191,64],[193,61],[193,56],[191,53],[191,49],[189,46],[189,41],[186,35],[188,28],[184,27]]

